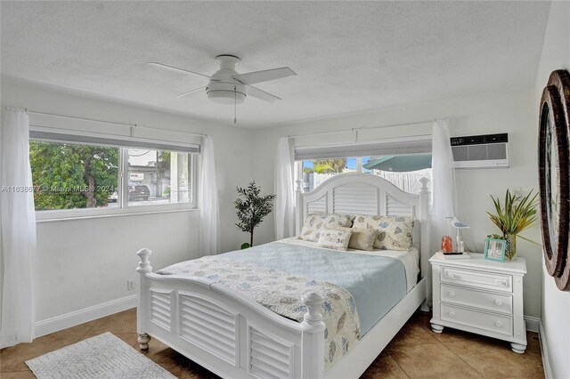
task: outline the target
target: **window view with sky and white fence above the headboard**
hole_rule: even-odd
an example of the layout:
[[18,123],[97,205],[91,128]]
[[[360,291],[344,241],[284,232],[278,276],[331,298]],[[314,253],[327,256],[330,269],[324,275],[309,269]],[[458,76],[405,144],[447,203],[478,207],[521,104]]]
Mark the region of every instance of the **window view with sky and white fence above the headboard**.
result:
[[431,154],[304,159],[297,162],[297,170],[305,192],[339,173],[354,172],[378,175],[405,192],[418,194],[420,178],[431,182]]

